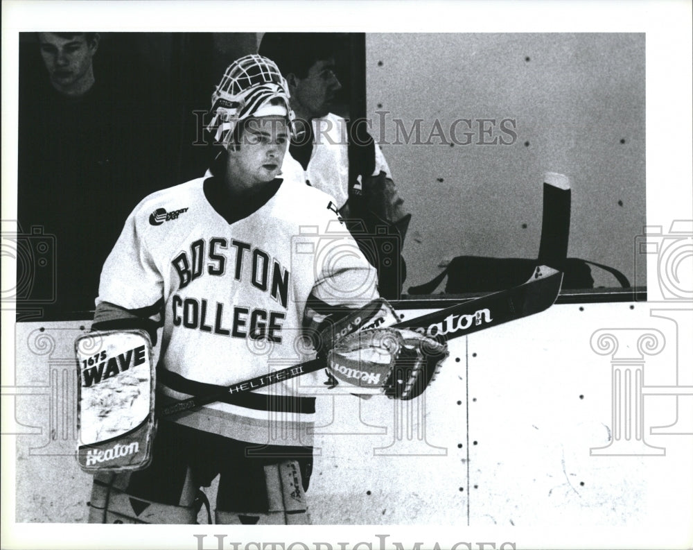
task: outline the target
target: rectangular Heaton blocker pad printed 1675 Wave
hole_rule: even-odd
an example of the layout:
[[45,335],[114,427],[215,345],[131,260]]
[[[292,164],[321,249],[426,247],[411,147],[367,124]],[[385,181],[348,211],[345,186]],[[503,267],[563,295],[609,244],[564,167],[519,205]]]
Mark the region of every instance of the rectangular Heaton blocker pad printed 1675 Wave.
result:
[[141,470],[155,434],[155,369],[146,331],[105,330],[75,341],[77,461],[85,472]]

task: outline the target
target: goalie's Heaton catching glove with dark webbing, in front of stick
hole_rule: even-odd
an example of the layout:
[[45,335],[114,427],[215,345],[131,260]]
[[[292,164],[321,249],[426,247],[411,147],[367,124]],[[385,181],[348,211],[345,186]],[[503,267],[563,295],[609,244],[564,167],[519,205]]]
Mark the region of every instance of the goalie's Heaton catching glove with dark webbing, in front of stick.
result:
[[413,399],[448,356],[448,346],[408,329],[374,328],[348,334],[327,354],[327,372],[351,393]]

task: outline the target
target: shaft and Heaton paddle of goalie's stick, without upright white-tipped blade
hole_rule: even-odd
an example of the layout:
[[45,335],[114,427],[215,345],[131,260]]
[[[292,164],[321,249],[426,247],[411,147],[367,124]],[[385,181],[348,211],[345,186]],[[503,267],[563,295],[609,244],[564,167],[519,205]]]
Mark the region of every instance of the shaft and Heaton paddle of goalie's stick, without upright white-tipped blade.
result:
[[[523,284],[405,320],[393,325],[393,327],[414,329],[417,332],[446,341],[459,336],[466,336],[548,309],[558,298],[562,280],[563,273],[561,271],[547,266],[538,266],[532,277]],[[213,403],[225,395],[235,395],[265,388],[265,386],[270,386],[270,384],[275,384],[278,381],[315,372],[325,368],[325,366],[324,359],[313,359],[231,384],[217,393],[188,397],[188,399],[182,399],[179,402],[161,407],[159,418]]]

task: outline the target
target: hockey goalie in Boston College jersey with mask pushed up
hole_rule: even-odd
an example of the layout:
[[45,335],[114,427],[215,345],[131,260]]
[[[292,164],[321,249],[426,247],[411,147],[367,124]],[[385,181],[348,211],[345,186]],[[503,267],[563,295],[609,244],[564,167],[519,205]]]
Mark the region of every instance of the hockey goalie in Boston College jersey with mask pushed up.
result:
[[304,388],[413,399],[447,354],[392,327],[356,241],[325,235],[343,225],[331,198],[282,178],[293,113],[274,63],[232,63],[211,114],[209,173],[135,207],[76,343],[90,522],[193,524],[219,476],[216,523],[309,523]]

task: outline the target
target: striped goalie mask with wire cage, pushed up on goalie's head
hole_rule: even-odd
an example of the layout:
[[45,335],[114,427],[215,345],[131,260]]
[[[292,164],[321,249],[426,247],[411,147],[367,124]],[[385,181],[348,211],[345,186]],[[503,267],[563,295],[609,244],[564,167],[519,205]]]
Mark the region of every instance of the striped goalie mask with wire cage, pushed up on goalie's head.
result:
[[245,55],[229,65],[214,90],[207,130],[217,143],[228,148],[238,121],[249,117],[287,117],[292,128],[294,113],[289,97],[286,79],[272,60]]

